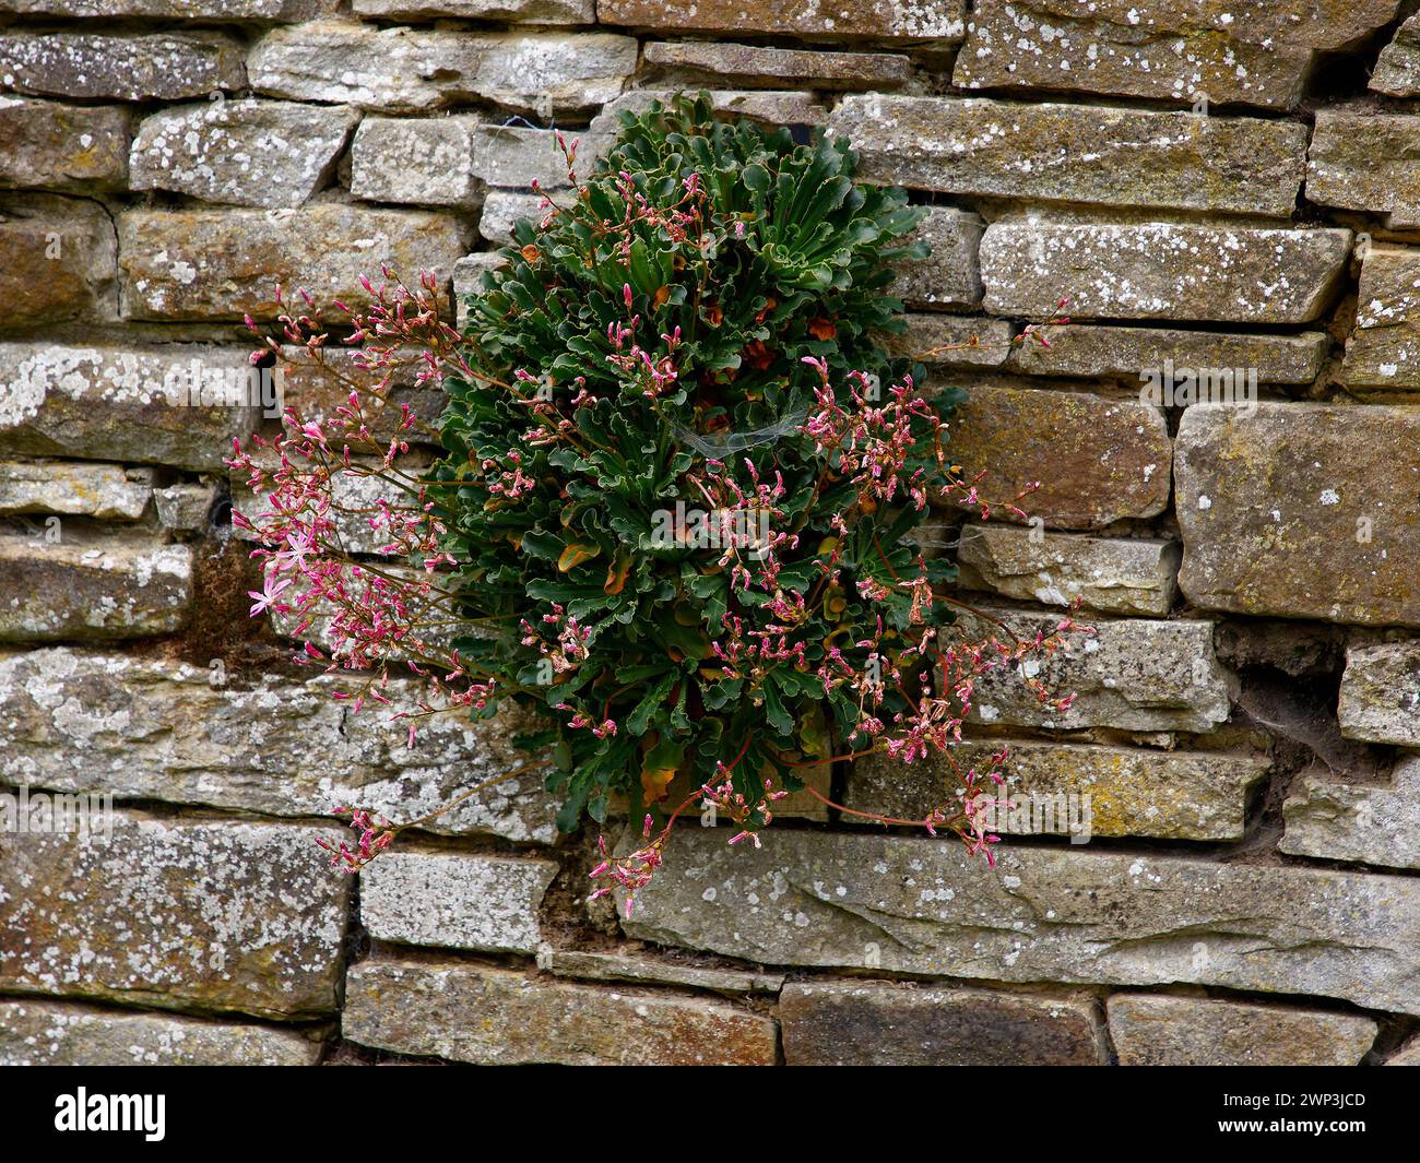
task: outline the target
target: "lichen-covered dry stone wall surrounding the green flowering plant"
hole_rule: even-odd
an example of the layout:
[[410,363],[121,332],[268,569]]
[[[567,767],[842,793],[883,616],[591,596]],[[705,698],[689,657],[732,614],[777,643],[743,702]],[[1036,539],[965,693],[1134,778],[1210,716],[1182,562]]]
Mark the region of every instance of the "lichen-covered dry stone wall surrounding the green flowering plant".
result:
[[[1420,1062],[1413,9],[0,0],[0,784],[112,797],[0,832],[0,1061]],[[1066,716],[987,684],[963,744],[1031,834],[692,826],[619,920],[524,777],[342,879],[334,807],[429,811],[517,724],[406,750],[246,616],[241,320],[379,263],[457,307],[565,183],[547,126],[585,158],[687,87],[930,207],[903,349],[977,337],[930,359],[954,456],[1044,480],[930,540],[984,613],[1098,628]]]

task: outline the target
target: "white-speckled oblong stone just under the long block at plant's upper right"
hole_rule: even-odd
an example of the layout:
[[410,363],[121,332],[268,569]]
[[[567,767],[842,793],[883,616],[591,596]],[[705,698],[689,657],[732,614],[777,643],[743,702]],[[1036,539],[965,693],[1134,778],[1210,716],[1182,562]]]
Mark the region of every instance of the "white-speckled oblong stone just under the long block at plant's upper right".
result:
[[981,239],[985,308],[1049,318],[1299,324],[1333,298],[1349,230],[1170,223],[994,223]]

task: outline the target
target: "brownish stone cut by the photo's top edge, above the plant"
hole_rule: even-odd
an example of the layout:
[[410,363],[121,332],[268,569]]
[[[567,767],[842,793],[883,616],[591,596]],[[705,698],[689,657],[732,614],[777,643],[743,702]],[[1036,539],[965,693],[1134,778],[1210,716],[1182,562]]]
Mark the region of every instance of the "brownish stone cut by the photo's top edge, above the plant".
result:
[[604,24],[625,24],[667,33],[733,33],[804,37],[866,37],[869,40],[961,40],[961,0],[862,0],[836,10],[815,0],[746,7],[740,0],[699,0],[667,7],[663,0],[601,0]]

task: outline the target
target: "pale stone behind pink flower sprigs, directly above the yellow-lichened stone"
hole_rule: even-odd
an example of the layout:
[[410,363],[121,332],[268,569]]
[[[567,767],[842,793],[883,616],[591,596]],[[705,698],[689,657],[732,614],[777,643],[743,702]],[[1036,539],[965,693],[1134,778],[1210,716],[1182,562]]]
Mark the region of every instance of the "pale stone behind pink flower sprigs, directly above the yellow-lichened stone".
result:
[[[1052,633],[1061,621],[1059,613],[978,609],[1024,640]],[[1076,696],[1068,710],[1041,707],[1015,670],[997,667],[977,680],[973,717],[1005,726],[1126,731],[1207,731],[1228,717],[1227,673],[1214,655],[1211,622],[1079,621],[1093,633],[1066,633],[1054,657],[1028,663],[1048,689]],[[1005,633],[994,622],[964,611],[958,623],[974,639]]]

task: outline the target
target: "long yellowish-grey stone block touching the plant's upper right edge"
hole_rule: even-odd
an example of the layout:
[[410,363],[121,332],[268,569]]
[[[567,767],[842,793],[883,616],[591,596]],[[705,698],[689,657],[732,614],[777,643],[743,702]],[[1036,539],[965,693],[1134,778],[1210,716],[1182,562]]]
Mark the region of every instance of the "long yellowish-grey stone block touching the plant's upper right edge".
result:
[[873,182],[988,197],[1287,217],[1305,126],[1191,114],[846,97],[829,124]]

